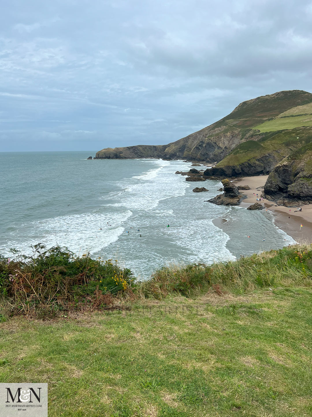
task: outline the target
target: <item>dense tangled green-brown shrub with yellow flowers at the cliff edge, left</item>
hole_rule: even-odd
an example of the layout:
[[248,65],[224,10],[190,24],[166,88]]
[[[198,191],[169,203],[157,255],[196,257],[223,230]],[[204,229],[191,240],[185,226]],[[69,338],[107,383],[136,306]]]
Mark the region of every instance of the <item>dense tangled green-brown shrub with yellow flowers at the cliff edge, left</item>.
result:
[[134,286],[130,269],[111,259],[76,256],[60,246],[45,250],[41,244],[33,246],[32,256],[13,253],[15,259],[0,256],[0,295],[10,300],[12,315],[111,307]]

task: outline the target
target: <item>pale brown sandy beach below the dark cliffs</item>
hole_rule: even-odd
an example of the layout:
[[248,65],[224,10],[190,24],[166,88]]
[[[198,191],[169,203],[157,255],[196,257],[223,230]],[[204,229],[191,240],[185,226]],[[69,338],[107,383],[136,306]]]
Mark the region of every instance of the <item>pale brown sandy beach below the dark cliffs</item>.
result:
[[[234,180],[237,186],[248,185],[250,190],[242,190],[241,193],[247,195],[241,206],[248,207],[257,203],[257,198],[264,191],[264,184],[267,181],[267,175],[244,177]],[[258,197],[257,197],[258,194]],[[302,211],[297,211],[297,207],[277,206],[274,201],[263,198],[261,201],[266,210],[274,211],[274,222],[279,229],[284,230],[289,236],[296,241],[309,240],[312,236],[312,205],[301,206]],[[300,228],[300,224],[302,227]]]

